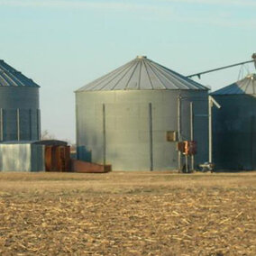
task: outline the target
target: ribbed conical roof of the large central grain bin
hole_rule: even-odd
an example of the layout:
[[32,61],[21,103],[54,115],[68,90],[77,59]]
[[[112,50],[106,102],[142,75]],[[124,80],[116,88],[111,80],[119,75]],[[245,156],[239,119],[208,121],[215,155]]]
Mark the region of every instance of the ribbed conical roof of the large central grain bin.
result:
[[208,90],[208,88],[145,56],[138,56],[122,67],[81,87],[77,92],[106,90]]

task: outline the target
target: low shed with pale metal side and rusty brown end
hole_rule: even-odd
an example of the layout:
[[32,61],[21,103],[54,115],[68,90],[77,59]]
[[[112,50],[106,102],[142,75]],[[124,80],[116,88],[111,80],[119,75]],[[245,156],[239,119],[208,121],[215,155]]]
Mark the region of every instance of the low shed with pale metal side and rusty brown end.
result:
[[0,171],[68,171],[69,166],[67,142],[0,143]]

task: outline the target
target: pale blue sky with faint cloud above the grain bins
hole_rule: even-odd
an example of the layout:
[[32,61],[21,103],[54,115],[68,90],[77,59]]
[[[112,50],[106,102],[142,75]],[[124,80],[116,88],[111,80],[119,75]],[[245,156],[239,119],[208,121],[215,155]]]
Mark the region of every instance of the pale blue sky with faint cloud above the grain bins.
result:
[[[41,85],[42,129],[75,141],[74,90],[136,55],[184,75],[249,60],[255,13],[255,0],[0,0],[0,59]],[[215,90],[239,71],[200,81]]]

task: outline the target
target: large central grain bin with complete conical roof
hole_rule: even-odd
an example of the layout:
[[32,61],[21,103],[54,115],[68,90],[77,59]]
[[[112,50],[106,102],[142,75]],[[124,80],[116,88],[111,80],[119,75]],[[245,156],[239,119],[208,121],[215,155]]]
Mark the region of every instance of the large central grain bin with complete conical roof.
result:
[[207,87],[147,57],[133,59],[76,91],[78,160],[114,170],[178,169],[175,134],[179,127],[178,140],[190,139],[192,102],[196,165],[206,161],[207,95]]

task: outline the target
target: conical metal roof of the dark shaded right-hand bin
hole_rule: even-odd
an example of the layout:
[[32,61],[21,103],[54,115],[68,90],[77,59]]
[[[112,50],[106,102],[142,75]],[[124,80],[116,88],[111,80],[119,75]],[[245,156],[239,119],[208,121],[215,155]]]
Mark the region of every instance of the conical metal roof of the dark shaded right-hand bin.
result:
[[211,95],[255,95],[256,74],[248,75],[246,78],[233,83],[230,86],[216,90]]

